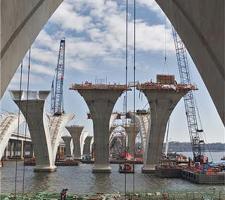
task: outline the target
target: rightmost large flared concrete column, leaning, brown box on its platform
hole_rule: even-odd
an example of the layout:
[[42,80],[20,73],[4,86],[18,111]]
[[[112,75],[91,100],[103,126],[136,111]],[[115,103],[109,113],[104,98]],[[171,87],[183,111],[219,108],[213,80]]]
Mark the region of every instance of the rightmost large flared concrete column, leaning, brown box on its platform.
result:
[[151,173],[159,163],[169,116],[179,100],[191,90],[185,85],[180,85],[179,88],[181,89],[178,89],[176,85],[164,88],[159,84],[151,86],[143,84],[138,87],[148,99],[151,109],[151,127],[147,135],[142,169],[144,173]]

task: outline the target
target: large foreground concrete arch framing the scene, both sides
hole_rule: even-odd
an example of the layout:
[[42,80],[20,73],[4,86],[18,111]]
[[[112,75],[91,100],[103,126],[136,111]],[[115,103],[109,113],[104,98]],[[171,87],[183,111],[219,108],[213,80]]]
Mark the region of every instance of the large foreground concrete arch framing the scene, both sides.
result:
[[[62,1],[1,1],[1,97],[25,52]],[[187,46],[225,124],[224,1],[156,2]]]

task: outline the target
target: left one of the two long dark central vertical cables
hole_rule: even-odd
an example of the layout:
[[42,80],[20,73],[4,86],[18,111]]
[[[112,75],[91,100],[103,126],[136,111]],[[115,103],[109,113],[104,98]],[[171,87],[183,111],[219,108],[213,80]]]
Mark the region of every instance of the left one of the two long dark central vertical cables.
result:
[[[126,0],[126,106],[125,106],[125,115],[126,115],[126,123],[125,125],[127,126],[127,88],[128,88],[128,0]],[[126,165],[126,155],[127,155],[127,134],[125,137],[125,157],[124,157],[124,166]],[[124,173],[124,193],[125,193],[125,200],[127,197],[127,175],[126,172]]]

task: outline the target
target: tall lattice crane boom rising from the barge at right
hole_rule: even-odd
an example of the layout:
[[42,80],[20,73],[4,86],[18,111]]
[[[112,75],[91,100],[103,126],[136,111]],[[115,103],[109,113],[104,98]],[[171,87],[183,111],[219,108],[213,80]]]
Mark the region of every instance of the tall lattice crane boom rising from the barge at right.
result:
[[[174,28],[172,28],[173,32],[173,39],[176,49],[176,57],[177,57],[177,64],[179,68],[180,80],[182,84],[191,84],[190,72],[189,72],[189,65],[187,60],[187,50],[184,46],[184,43],[178,36],[177,32]],[[193,158],[195,162],[204,163],[204,149],[205,149],[205,142],[202,138],[203,130],[198,126],[197,120],[197,105],[194,100],[194,94],[189,91],[184,96],[184,105],[188,123],[188,130],[191,139],[192,151],[193,151]]]

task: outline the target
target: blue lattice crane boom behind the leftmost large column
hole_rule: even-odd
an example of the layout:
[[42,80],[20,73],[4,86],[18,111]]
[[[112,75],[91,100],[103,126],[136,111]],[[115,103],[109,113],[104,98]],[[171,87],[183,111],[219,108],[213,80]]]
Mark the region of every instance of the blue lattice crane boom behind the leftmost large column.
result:
[[60,41],[56,74],[52,81],[51,90],[51,113],[61,115],[64,113],[63,107],[63,80],[65,69],[65,39]]

